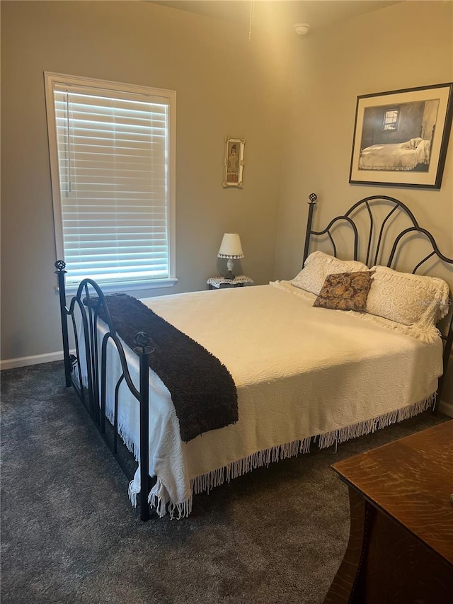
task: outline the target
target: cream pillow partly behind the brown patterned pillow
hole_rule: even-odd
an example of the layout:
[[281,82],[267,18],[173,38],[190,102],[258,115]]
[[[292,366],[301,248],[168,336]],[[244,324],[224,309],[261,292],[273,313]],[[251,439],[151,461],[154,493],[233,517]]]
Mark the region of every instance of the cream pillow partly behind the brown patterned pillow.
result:
[[314,251],[306,258],[304,268],[291,283],[294,287],[318,295],[327,275],[359,273],[364,270],[368,270],[368,267],[362,262],[340,260],[323,251]]

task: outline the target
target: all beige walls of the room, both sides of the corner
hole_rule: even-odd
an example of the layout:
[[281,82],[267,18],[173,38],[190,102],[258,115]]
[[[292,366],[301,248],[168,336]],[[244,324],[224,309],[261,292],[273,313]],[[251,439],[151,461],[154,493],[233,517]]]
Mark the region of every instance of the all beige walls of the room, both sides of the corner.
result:
[[[45,70],[177,91],[179,283],[157,294],[204,288],[236,230],[244,273],[292,278],[312,191],[318,226],[365,195],[394,195],[453,256],[452,141],[439,191],[348,184],[357,95],[452,81],[452,8],[405,1],[248,42],[246,27],[146,2],[2,2],[1,358],[62,348]],[[243,190],[222,188],[225,135],[246,137]]]

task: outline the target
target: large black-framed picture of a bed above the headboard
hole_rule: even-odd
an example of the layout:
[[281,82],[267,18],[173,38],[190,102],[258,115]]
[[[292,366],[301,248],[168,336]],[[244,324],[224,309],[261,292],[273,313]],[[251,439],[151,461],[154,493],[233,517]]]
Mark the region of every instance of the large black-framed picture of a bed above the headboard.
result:
[[350,183],[440,189],[453,83],[357,97]]

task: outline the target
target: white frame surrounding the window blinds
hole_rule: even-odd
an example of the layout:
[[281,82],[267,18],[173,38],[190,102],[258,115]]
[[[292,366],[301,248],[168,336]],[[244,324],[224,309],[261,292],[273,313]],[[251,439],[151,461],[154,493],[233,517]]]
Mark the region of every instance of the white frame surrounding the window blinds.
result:
[[[144,94],[159,96],[168,100],[168,278],[149,279],[135,283],[121,283],[121,290],[147,290],[156,287],[171,287],[178,282],[176,278],[176,91],[167,89],[154,89],[148,86],[134,84],[121,84],[115,81],[85,78],[54,72],[44,72],[45,98],[47,108],[47,130],[50,151],[50,173],[52,179],[52,202],[54,213],[55,248],[57,259],[64,259],[63,224],[62,224],[62,199],[59,183],[59,163],[57,153],[57,128],[55,124],[54,87],[55,85],[86,86],[108,91],[129,94]],[[103,284],[103,291],[117,291],[118,284]],[[76,290],[69,286],[68,292]]]

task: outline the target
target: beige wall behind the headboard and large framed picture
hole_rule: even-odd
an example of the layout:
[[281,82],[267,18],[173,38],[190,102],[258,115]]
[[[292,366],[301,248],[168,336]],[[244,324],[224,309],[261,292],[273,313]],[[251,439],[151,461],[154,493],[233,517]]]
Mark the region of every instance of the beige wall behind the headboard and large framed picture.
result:
[[[405,1],[293,41],[276,278],[300,270],[311,192],[319,229],[367,195],[396,197],[453,257],[453,136],[440,190],[348,184],[357,96],[453,81],[452,38],[452,2]],[[453,267],[442,276],[453,289]],[[453,403],[453,359],[445,390]]]

